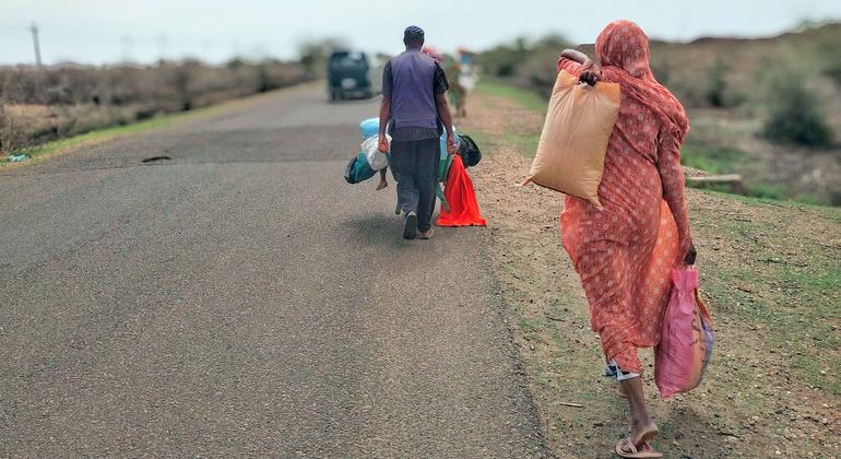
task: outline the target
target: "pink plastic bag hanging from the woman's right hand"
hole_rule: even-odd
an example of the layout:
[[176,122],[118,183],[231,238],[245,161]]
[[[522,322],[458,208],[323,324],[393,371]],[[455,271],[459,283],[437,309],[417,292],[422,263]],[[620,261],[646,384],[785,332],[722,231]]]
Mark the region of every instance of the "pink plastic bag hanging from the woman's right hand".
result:
[[672,296],[654,357],[654,381],[665,399],[695,389],[712,356],[712,317],[698,285],[695,267],[672,270]]

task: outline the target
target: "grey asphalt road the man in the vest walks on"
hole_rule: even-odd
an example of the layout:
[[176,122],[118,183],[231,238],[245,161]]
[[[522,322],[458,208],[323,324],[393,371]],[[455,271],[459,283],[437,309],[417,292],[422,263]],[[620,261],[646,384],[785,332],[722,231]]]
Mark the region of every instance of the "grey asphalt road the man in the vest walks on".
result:
[[0,175],[0,456],[543,454],[483,231],[404,242],[341,177],[376,109],[298,87]]

